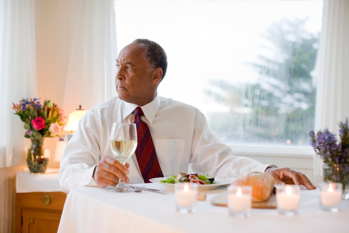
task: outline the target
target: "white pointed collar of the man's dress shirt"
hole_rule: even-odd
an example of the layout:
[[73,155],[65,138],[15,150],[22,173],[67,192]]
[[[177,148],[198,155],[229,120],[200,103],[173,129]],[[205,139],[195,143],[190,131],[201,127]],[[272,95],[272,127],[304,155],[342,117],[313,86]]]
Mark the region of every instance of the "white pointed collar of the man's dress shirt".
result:
[[[130,115],[134,111],[135,108],[138,107],[138,105],[133,103],[127,103],[125,101],[123,102],[124,102],[124,108],[122,109],[122,116],[125,119],[128,115]],[[156,112],[159,110],[159,107],[160,107],[160,97],[158,96],[157,93],[153,101],[151,101],[146,105],[141,106],[144,116],[147,118],[150,124],[153,123]]]

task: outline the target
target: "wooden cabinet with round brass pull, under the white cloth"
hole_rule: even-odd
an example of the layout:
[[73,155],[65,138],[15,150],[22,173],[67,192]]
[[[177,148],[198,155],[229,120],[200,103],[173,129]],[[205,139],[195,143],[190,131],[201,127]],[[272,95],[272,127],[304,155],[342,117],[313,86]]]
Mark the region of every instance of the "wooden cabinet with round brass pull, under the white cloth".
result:
[[66,197],[64,192],[16,193],[16,232],[56,233]]

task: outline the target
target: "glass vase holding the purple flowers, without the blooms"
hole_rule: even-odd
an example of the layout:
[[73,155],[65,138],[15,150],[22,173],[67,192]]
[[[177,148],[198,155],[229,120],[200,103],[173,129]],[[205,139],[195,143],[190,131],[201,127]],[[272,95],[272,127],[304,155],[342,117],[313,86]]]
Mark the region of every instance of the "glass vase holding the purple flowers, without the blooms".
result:
[[324,163],[324,181],[339,182],[343,187],[342,199],[349,199],[349,166],[346,164]]

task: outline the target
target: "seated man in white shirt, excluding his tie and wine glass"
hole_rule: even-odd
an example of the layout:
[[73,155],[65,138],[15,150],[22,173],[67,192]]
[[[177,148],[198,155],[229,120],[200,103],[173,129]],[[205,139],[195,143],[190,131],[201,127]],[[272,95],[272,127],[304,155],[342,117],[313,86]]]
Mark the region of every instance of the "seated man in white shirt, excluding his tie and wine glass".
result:
[[194,172],[211,177],[238,177],[259,171],[272,175],[276,184],[316,188],[302,173],[233,155],[212,134],[198,109],[158,96],[157,87],[165,76],[167,57],[157,43],[136,39],[121,50],[117,68],[118,97],[92,107],[64,150],[59,174],[62,191],[84,185],[116,186],[119,179],[126,183],[147,182],[149,177],[143,179],[135,154],[122,165],[112,157],[109,146],[113,122],[132,123],[137,107],[144,112],[141,120],[149,127],[163,176],[186,172],[191,165]]

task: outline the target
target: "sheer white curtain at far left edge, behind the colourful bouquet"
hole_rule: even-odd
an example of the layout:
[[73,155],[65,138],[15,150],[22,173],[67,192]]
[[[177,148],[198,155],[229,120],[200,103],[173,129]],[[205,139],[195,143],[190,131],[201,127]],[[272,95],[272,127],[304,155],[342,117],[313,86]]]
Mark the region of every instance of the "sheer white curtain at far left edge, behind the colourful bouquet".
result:
[[0,0],[0,167],[25,163],[22,148],[28,140],[12,102],[37,92],[34,4],[34,0]]

